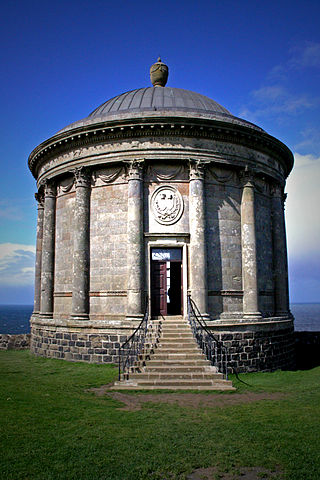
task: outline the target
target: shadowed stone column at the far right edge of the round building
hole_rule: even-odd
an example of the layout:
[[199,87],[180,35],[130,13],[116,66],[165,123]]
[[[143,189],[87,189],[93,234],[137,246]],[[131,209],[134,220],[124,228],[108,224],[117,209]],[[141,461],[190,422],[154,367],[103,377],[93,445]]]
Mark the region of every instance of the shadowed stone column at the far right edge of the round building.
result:
[[271,194],[275,315],[281,316],[289,313],[284,194],[280,185],[273,185]]

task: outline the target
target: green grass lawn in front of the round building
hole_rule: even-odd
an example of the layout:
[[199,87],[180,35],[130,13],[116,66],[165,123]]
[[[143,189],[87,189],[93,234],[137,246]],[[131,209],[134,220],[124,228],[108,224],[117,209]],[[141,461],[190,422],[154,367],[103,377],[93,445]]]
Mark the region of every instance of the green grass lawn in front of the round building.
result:
[[240,375],[250,386],[231,378],[237,393],[282,392],[276,400],[138,411],[87,391],[113,381],[112,366],[8,351],[0,372],[1,479],[172,480],[210,466],[320,478],[320,368]]

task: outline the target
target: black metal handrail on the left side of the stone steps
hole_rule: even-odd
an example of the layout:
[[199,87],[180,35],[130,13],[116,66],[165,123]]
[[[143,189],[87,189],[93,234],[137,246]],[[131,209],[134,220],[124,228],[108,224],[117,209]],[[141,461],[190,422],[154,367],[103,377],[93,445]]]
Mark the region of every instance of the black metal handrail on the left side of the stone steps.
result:
[[121,374],[128,378],[130,367],[133,366],[144,349],[148,333],[148,319],[149,302],[147,298],[143,319],[132,335],[119,347],[119,381],[121,380]]

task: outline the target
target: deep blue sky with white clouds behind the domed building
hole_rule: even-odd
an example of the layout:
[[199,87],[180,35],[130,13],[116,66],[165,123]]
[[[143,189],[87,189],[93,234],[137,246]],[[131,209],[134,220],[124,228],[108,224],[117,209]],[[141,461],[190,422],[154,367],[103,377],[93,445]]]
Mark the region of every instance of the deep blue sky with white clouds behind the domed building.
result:
[[31,150],[107,99],[149,85],[207,95],[293,151],[292,302],[320,301],[320,2],[18,0],[1,9],[0,303],[33,302]]

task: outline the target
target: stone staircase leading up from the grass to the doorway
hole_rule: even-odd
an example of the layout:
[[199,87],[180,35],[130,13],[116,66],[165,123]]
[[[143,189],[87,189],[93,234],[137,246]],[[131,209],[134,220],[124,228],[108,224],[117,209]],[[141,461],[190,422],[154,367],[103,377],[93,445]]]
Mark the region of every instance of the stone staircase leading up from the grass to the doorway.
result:
[[148,355],[132,367],[127,380],[115,382],[113,390],[235,390],[206,359],[182,316],[153,320],[161,323],[161,336]]

